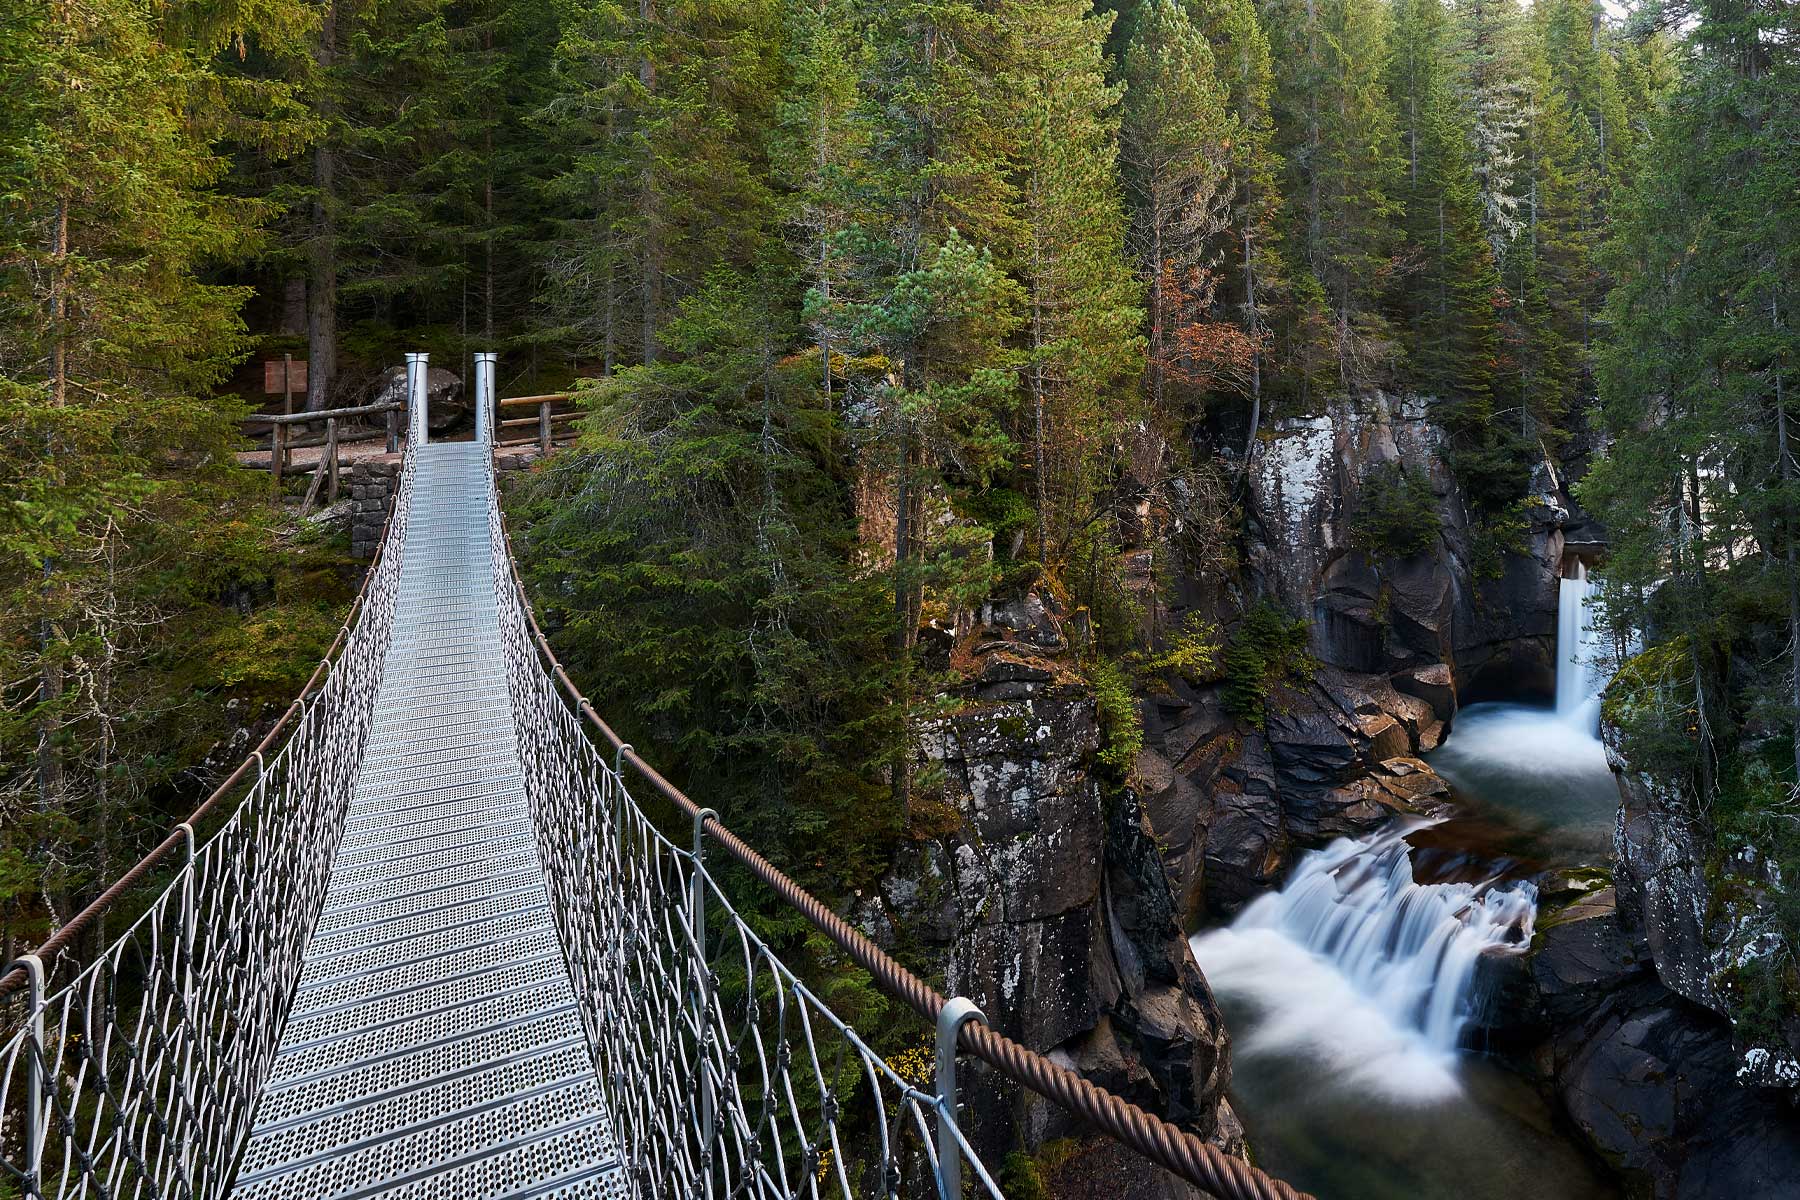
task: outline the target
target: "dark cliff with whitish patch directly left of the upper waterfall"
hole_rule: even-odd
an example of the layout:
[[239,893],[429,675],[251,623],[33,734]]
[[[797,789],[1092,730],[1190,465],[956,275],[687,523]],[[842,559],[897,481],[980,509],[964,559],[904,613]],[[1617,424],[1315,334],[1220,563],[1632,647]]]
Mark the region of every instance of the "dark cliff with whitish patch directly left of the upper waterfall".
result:
[[[1242,592],[1307,622],[1316,669],[1282,684],[1260,729],[1233,720],[1219,687],[1147,700],[1145,806],[1190,923],[1237,912],[1301,849],[1431,811],[1445,788],[1418,756],[1460,703],[1553,693],[1573,520],[1561,479],[1541,466],[1503,529],[1471,520],[1427,410],[1424,398],[1341,398],[1276,421],[1258,444]],[[1436,536],[1424,549],[1384,552],[1359,536],[1363,493],[1382,471],[1427,489]],[[1202,615],[1229,630],[1231,601],[1211,596]]]

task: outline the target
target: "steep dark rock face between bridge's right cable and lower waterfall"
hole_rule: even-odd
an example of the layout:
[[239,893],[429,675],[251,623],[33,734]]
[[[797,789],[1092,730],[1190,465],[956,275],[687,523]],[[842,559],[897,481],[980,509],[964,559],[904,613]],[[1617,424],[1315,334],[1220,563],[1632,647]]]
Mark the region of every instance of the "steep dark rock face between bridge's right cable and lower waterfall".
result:
[[[994,678],[988,678],[992,675]],[[941,963],[1010,1038],[1202,1135],[1229,1142],[1229,1049],[1219,1007],[1179,925],[1177,900],[1141,801],[1103,799],[1093,698],[1030,664],[988,666],[976,696],[925,730],[943,781],[920,797],[959,828],[896,858],[855,918],[884,943]],[[1017,1144],[1080,1135],[1048,1101],[974,1072],[976,1137],[994,1160]],[[1222,1114],[1226,1114],[1222,1117]]]

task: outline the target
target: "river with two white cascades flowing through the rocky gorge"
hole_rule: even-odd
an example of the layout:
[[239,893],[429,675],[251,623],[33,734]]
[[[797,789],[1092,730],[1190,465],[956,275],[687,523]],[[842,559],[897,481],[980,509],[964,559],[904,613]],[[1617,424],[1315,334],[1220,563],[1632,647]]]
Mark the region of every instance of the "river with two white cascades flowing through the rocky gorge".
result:
[[1530,945],[1532,876],[1607,858],[1586,599],[1584,572],[1562,581],[1557,707],[1471,705],[1431,756],[1454,817],[1314,851],[1193,937],[1258,1164],[1321,1200],[1616,1195],[1530,1083],[1460,1049],[1476,959]]

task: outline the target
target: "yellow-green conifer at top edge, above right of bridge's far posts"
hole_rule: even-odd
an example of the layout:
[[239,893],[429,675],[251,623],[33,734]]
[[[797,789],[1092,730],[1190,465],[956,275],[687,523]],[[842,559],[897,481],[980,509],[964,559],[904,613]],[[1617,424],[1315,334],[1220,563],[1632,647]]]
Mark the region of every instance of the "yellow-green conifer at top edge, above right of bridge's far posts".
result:
[[542,254],[549,320],[605,363],[655,362],[671,306],[770,232],[772,2],[659,11],[580,0],[563,20],[538,128],[554,167]]

